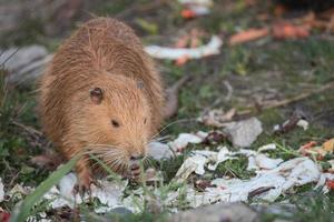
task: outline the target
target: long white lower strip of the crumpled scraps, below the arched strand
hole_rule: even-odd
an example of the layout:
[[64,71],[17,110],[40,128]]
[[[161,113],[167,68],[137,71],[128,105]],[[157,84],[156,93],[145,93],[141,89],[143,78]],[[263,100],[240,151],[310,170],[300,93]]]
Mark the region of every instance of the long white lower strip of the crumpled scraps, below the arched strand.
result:
[[[273,170],[262,170],[248,181],[240,179],[215,179],[204,192],[189,188],[187,201],[191,208],[215,202],[238,202],[252,198],[273,202],[293,186],[320,180],[318,167],[308,158],[296,158],[283,162]],[[213,188],[215,185],[215,188]],[[259,192],[263,191],[263,192]]]

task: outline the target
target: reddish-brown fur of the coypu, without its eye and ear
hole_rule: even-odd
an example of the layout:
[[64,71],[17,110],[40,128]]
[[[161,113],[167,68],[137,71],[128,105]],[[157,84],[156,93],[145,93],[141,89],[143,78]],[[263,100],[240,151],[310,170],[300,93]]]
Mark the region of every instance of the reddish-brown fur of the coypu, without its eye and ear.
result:
[[[104,92],[100,104],[90,99],[97,87]],[[109,18],[88,21],[63,42],[40,91],[43,130],[65,158],[88,149],[117,172],[131,155],[145,153],[163,119],[163,87],[153,61],[134,31]],[[77,172],[80,183],[91,182],[86,155]]]

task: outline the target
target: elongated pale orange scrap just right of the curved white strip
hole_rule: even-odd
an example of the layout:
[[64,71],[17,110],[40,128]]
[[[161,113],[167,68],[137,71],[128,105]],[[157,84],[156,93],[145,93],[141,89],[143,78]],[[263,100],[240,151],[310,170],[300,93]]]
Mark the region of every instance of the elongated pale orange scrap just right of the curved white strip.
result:
[[239,43],[245,43],[254,41],[268,36],[269,30],[267,28],[263,29],[248,29],[246,31],[238,32],[229,38],[228,44],[235,46]]

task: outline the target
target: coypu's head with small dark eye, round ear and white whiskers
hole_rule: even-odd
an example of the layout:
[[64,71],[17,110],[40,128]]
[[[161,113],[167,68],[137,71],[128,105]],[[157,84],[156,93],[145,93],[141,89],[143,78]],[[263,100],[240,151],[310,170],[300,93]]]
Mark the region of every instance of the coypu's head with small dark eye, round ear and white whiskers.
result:
[[144,82],[106,74],[84,97],[75,122],[82,147],[116,172],[146,155],[154,128]]

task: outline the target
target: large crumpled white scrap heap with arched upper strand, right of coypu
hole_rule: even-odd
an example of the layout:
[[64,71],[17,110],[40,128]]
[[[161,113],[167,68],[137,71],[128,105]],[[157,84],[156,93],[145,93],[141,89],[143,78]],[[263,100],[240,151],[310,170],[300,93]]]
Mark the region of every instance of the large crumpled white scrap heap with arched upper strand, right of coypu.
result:
[[262,147],[261,152],[247,149],[232,152],[226,147],[220,148],[218,152],[196,150],[185,160],[176,179],[179,182],[185,181],[194,172],[203,175],[206,169],[215,170],[220,162],[236,159],[239,154],[248,158],[247,170],[256,170],[256,176],[249,180],[215,179],[204,192],[197,192],[188,185],[186,196],[191,208],[218,201],[247,201],[249,198],[273,202],[293,186],[318,182],[321,169],[311,159],[295,158],[284,162],[282,159],[272,159],[262,153],[273,149],[276,149],[276,145]]

